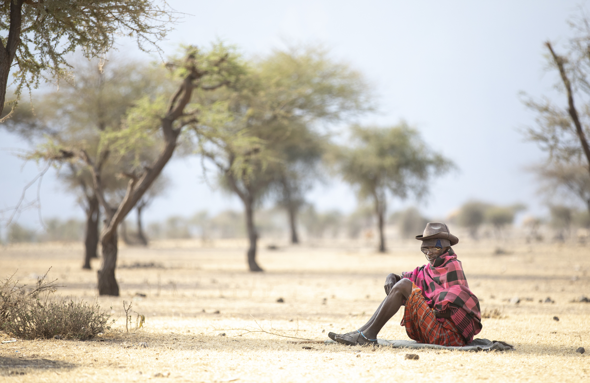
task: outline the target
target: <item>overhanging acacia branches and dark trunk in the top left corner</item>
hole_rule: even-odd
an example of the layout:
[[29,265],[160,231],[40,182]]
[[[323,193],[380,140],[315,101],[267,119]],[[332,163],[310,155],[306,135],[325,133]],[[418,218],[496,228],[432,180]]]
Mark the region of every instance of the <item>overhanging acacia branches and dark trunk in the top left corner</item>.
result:
[[[22,88],[41,80],[70,78],[66,57],[81,49],[86,58],[101,57],[117,35],[136,39],[143,51],[157,43],[175,21],[165,1],[5,0],[0,4],[0,114],[8,75],[14,75],[15,99]],[[14,62],[14,64],[13,64]],[[2,120],[9,117],[5,115]],[[0,121],[2,121],[0,120]]]

